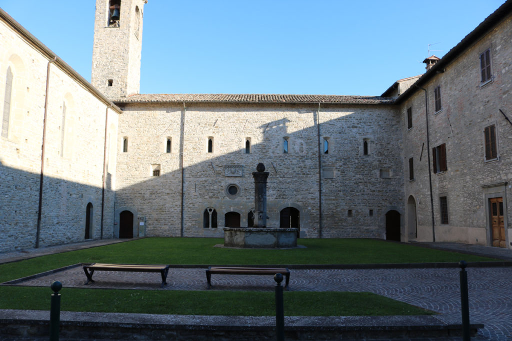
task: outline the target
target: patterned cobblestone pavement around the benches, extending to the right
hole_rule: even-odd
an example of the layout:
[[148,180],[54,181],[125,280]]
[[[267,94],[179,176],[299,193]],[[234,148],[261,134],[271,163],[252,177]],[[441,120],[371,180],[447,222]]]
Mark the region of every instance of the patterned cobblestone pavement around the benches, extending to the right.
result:
[[[467,268],[472,323],[483,323],[479,339],[512,340],[512,267]],[[96,271],[96,282],[84,285],[80,266],[37,277],[22,285],[127,288],[148,290],[205,290],[204,268],[171,268],[168,285],[160,275],[140,272]],[[271,276],[212,275],[213,290],[273,290]],[[458,268],[426,269],[292,269],[291,291],[371,291],[442,313],[456,322],[460,317]],[[454,338],[456,339],[456,338]],[[1,340],[1,339],[0,339]]]

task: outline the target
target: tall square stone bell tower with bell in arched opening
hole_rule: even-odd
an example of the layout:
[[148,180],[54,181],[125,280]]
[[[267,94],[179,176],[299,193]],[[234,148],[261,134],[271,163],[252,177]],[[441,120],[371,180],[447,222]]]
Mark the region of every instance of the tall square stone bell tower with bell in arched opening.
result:
[[106,97],[139,93],[147,0],[96,0],[91,83]]

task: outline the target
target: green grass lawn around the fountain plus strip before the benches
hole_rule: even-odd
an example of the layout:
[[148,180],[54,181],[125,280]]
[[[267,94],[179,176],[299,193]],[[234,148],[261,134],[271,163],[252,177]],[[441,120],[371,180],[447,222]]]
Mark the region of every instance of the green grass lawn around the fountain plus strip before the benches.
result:
[[[222,239],[144,238],[0,265],[0,283],[87,262],[139,264],[355,264],[490,261],[494,259],[373,239],[300,239],[286,250],[214,247]],[[273,292],[63,288],[62,310],[166,314],[272,315]],[[51,290],[0,286],[0,309],[49,309]],[[94,300],[91,300],[94,297]],[[232,302],[237,302],[233,304]],[[372,293],[285,292],[287,315],[429,313]]]

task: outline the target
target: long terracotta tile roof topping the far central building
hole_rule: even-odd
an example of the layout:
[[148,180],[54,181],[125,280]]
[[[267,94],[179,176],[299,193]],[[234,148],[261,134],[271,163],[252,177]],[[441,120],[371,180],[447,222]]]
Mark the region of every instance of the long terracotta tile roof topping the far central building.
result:
[[276,95],[276,94],[137,94],[114,100],[127,103],[323,103],[323,104],[393,104],[380,96]]

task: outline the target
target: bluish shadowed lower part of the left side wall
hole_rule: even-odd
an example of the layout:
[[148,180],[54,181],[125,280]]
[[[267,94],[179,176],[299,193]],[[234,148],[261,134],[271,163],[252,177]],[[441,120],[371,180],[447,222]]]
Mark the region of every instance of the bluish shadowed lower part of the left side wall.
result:
[[[103,238],[113,237],[114,192],[105,183]],[[0,252],[36,246],[40,175],[0,162]],[[43,178],[39,246],[101,238],[101,187]]]

